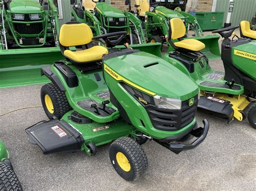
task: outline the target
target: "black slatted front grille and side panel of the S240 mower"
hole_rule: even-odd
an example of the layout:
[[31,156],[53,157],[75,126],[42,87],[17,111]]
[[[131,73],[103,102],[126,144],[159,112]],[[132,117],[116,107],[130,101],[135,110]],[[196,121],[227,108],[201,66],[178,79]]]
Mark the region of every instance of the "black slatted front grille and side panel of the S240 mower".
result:
[[145,102],[139,101],[147,111],[154,128],[162,131],[177,131],[190,124],[197,111],[198,95],[194,96],[194,104],[189,105],[190,99],[181,102],[181,110],[167,110],[159,109],[154,105],[152,96],[149,96],[142,91],[132,88],[126,83],[122,83],[122,86],[139,101],[139,98],[143,98]]

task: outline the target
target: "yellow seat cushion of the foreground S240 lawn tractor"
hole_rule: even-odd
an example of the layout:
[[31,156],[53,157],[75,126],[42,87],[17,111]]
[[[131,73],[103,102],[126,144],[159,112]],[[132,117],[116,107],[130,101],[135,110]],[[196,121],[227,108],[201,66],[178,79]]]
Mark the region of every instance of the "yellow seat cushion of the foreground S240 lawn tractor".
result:
[[83,51],[70,51],[65,50],[64,55],[76,62],[92,62],[96,60],[102,60],[102,56],[107,54],[108,51],[103,46],[93,46]]

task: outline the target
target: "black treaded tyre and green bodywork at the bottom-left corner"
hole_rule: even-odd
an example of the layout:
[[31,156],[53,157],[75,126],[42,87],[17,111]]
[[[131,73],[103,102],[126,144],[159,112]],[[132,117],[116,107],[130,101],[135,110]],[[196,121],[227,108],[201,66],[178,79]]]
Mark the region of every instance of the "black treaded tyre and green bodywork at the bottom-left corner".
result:
[[22,190],[9,159],[9,152],[0,141],[0,190]]

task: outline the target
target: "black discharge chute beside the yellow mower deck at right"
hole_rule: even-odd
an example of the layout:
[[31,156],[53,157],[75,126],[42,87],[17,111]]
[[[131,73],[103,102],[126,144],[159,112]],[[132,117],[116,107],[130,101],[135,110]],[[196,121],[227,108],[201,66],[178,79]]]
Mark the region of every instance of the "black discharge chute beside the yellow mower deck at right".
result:
[[227,118],[228,123],[233,120],[234,110],[232,109],[232,104],[228,101],[205,95],[200,97],[198,108],[206,110],[214,116]]

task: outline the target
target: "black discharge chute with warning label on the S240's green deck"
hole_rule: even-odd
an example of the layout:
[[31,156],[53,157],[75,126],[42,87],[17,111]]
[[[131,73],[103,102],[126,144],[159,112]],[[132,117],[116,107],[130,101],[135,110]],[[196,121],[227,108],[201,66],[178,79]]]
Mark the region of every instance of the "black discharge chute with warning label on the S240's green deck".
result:
[[25,131],[44,154],[78,151],[84,142],[80,132],[63,120],[42,121]]

